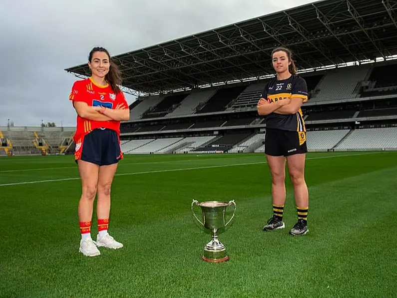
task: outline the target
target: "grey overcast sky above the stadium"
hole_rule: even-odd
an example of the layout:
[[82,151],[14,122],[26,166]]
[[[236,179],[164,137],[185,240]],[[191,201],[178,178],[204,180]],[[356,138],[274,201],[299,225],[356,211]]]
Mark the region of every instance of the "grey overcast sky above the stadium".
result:
[[[64,68],[306,4],[308,0],[0,0],[0,126],[74,126]],[[133,101],[128,96],[128,101]]]

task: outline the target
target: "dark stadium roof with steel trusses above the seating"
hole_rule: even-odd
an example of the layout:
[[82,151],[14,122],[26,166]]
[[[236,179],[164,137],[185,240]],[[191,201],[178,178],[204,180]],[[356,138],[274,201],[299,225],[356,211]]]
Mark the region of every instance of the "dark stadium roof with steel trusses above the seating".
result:
[[[298,69],[317,70],[397,54],[397,0],[324,0],[114,56],[123,86],[150,94],[260,79],[276,46]],[[86,64],[65,69],[84,77]]]

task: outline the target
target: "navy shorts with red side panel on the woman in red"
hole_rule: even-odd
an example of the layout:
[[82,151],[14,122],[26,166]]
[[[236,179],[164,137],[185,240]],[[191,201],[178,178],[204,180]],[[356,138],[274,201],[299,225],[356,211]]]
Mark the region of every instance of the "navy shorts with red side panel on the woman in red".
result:
[[76,143],[74,156],[76,162],[81,159],[98,165],[117,163],[123,158],[118,135],[108,128],[97,128],[85,135]]

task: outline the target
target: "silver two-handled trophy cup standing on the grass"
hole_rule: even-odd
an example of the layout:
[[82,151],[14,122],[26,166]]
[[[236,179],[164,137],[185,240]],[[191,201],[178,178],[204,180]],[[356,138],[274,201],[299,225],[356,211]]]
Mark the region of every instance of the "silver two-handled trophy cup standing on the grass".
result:
[[[199,206],[201,208],[201,220],[196,216],[194,206]],[[233,206],[234,210],[231,218],[226,221],[225,213],[228,206]],[[225,245],[219,241],[218,235],[225,231],[226,226],[232,222],[234,214],[236,213],[235,201],[204,201],[199,203],[197,200],[193,199],[191,209],[194,218],[196,218],[201,226],[210,231],[212,235],[211,241],[204,246],[203,260],[207,262],[227,261],[229,256],[227,255]]]

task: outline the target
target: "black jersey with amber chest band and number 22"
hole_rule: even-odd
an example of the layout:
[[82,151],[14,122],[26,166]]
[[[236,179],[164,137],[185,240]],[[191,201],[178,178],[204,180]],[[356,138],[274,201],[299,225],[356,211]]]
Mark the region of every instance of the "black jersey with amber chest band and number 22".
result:
[[[286,98],[299,97],[303,102],[308,101],[308,87],[305,79],[297,75],[291,75],[287,79],[272,79],[263,89],[261,98],[269,103]],[[265,118],[266,127],[290,131],[306,131],[302,110],[295,114],[282,115],[275,112],[268,114]]]

